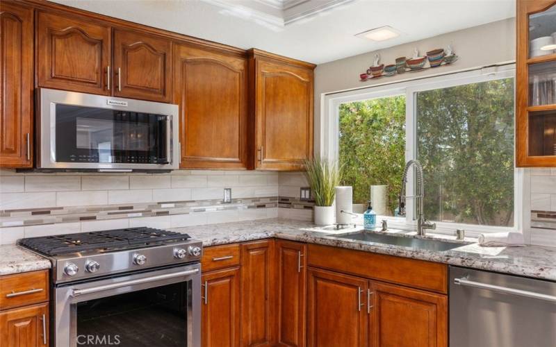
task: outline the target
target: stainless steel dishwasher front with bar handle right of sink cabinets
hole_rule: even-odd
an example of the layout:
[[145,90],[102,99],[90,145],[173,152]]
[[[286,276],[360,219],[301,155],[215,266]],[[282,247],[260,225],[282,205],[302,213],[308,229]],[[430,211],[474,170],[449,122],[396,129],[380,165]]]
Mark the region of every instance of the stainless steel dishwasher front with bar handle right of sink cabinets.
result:
[[450,347],[555,347],[556,282],[450,266]]

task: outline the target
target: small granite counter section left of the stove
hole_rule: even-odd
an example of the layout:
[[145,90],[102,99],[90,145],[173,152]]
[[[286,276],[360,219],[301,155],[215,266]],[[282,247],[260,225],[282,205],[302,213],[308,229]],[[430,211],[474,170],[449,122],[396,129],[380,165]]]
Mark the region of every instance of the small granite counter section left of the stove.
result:
[[15,244],[0,246],[0,276],[50,269],[50,260]]

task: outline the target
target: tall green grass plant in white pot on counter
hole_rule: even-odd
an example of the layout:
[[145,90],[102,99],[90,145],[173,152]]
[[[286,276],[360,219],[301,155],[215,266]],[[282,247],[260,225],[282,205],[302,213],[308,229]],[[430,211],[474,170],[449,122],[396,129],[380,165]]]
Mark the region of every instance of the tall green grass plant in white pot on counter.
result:
[[315,199],[315,224],[334,224],[334,187],[340,184],[341,167],[327,159],[313,158],[305,161],[305,176]]

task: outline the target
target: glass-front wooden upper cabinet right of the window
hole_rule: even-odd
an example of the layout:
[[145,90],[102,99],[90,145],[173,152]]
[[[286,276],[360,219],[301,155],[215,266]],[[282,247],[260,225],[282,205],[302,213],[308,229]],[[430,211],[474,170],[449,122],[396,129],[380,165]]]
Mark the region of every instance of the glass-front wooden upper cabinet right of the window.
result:
[[556,1],[517,0],[516,164],[556,167]]

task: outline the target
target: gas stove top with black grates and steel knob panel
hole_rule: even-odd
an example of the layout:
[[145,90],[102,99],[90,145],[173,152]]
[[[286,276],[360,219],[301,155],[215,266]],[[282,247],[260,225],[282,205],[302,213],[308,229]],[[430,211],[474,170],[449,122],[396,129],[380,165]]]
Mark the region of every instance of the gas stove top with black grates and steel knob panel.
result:
[[202,242],[154,228],[124,228],[28,237],[19,246],[48,257],[55,283],[199,262]]

